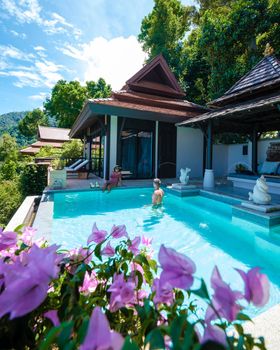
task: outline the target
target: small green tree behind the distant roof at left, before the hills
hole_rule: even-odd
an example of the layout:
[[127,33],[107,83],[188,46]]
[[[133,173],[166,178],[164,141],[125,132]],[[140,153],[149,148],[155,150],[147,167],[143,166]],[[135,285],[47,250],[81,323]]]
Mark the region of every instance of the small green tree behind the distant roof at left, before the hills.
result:
[[36,108],[19,121],[18,129],[25,137],[35,137],[38,125],[49,126],[49,120],[43,111]]

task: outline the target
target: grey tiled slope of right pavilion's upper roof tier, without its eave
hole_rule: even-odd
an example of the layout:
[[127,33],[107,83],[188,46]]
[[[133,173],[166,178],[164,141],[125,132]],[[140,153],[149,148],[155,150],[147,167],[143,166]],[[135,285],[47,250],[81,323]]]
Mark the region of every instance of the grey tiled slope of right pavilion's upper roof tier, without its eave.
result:
[[254,88],[267,81],[280,78],[280,61],[275,56],[264,57],[253,69],[235,83],[225,95]]

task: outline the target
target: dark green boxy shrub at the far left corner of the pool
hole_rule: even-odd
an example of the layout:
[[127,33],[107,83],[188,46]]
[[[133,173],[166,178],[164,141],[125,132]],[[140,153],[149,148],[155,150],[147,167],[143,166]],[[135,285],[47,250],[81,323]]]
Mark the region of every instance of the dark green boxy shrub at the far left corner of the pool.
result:
[[40,195],[47,186],[47,167],[24,164],[20,174],[20,189],[24,196]]

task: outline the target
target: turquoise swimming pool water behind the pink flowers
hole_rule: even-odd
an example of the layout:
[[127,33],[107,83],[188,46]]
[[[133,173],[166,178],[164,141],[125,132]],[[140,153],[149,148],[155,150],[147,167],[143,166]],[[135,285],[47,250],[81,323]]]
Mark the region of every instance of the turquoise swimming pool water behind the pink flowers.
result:
[[[153,238],[157,253],[164,243],[192,258],[197,276],[209,284],[214,265],[236,289],[242,281],[234,268],[260,266],[271,281],[264,309],[280,303],[280,228],[266,230],[232,219],[231,206],[202,196],[179,198],[166,194],[162,210],[147,206],[152,189],[120,189],[54,194],[52,240],[65,248],[86,244],[94,222],[101,229],[125,224],[131,237]],[[261,310],[261,311],[264,311]],[[254,308],[251,316],[259,313]]]

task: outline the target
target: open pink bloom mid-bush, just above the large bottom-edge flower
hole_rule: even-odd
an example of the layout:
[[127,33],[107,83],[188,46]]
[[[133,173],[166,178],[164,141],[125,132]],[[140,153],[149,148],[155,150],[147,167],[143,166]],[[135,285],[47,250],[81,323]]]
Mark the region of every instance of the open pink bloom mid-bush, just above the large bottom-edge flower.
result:
[[133,282],[126,282],[123,274],[114,275],[114,281],[108,289],[110,296],[110,311],[114,312],[125,306],[135,302],[135,285]]

